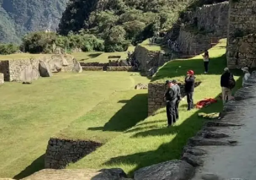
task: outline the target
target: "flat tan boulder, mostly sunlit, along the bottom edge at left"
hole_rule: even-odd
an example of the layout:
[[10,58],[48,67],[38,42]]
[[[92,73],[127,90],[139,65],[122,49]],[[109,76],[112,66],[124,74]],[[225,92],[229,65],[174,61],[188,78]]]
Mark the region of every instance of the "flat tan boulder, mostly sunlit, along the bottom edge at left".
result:
[[125,180],[120,168],[113,169],[43,169],[22,180]]

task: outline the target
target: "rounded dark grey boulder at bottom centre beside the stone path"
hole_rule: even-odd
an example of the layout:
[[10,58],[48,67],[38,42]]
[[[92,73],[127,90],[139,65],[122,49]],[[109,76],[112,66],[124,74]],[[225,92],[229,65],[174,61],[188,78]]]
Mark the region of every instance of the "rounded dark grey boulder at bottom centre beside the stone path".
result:
[[195,167],[185,161],[172,160],[143,167],[134,172],[134,180],[188,180]]

